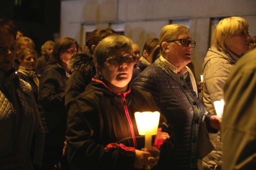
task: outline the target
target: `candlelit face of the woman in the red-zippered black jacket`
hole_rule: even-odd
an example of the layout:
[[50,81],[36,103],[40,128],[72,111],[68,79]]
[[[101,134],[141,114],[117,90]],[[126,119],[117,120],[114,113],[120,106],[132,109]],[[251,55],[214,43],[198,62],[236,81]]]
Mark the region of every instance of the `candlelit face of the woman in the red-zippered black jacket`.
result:
[[[114,57],[131,57],[129,62],[121,62],[119,64],[111,64],[111,58]],[[109,60],[108,60],[109,59]],[[130,58],[128,58],[130,59]],[[98,65],[98,73],[112,85],[117,87],[125,87],[131,80],[132,69],[134,66],[134,58],[129,49],[119,49],[113,56],[109,56],[103,66]]]

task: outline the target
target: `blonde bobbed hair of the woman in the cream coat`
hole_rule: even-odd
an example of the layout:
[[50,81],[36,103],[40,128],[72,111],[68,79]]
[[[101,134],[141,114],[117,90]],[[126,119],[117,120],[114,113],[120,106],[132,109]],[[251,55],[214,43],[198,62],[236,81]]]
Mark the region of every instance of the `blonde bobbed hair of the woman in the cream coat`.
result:
[[248,22],[242,17],[222,19],[214,31],[214,44],[219,51],[225,51],[232,36],[239,30],[249,28]]

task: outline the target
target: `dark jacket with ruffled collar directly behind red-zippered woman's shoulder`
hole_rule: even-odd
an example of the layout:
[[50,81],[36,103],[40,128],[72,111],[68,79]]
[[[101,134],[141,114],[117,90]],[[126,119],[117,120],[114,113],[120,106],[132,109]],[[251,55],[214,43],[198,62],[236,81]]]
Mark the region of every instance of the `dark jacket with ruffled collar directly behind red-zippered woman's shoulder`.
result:
[[69,61],[72,74],[67,81],[65,107],[68,109],[72,100],[85,90],[96,74],[93,56],[87,53],[77,53]]

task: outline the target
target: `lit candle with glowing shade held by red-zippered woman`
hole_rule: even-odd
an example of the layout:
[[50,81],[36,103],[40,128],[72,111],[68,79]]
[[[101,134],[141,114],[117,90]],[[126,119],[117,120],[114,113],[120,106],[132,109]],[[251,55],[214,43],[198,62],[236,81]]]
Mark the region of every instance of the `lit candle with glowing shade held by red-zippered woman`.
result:
[[[134,113],[139,135],[145,135],[145,148],[149,149],[152,146],[152,135],[158,133],[159,112],[135,112]],[[146,166],[145,170],[150,167]]]

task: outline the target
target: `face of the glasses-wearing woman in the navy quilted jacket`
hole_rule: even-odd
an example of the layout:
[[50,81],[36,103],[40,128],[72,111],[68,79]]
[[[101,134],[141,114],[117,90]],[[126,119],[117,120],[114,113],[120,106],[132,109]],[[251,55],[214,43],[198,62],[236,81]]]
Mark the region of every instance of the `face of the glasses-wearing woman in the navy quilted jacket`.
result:
[[[191,40],[188,32],[181,33],[177,39]],[[184,46],[180,40],[169,42],[166,59],[176,67],[185,66],[191,62],[192,45]]]

